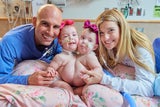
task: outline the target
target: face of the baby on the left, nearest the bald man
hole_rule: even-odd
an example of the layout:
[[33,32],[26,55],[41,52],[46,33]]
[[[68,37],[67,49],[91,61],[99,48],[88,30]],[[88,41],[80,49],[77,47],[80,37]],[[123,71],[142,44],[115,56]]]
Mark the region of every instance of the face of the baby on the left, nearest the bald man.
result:
[[74,26],[67,25],[61,30],[60,43],[63,49],[68,51],[75,51],[78,44],[78,33]]

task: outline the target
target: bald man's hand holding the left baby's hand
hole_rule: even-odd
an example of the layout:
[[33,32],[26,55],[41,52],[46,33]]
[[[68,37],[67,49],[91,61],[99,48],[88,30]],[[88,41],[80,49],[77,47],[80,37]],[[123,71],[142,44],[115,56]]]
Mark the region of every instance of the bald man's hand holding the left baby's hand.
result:
[[54,76],[47,71],[37,70],[28,78],[28,85],[49,86],[52,84]]

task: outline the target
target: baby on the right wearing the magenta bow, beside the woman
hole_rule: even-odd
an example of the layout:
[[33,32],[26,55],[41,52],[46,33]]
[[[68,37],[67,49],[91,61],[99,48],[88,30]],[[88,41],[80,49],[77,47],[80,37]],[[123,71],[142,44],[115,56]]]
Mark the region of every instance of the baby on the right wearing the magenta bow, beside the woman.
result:
[[[89,20],[84,23],[84,30],[79,39],[78,43],[78,55],[76,60],[75,72],[81,73],[81,79],[79,85],[88,84],[88,75],[84,75],[85,70],[91,71],[91,73],[98,72],[102,75],[102,67],[95,55],[96,49],[98,48],[98,28],[95,24],[90,24]],[[80,80],[81,80],[80,79]],[[81,95],[83,87],[74,89],[74,93]]]

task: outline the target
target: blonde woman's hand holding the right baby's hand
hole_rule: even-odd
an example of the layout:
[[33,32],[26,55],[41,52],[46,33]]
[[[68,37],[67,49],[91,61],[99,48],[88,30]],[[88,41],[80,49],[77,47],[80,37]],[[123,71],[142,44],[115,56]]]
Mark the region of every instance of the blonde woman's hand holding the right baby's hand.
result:
[[82,74],[83,75],[81,76],[81,78],[88,85],[100,83],[103,77],[102,72],[91,71],[91,70],[82,71]]

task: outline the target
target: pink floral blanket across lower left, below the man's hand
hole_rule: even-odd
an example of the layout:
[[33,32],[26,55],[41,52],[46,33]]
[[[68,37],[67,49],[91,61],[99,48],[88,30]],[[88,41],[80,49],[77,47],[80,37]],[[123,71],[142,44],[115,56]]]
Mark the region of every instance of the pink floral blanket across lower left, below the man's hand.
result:
[[86,107],[86,105],[79,96],[60,88],[1,84],[0,107]]

